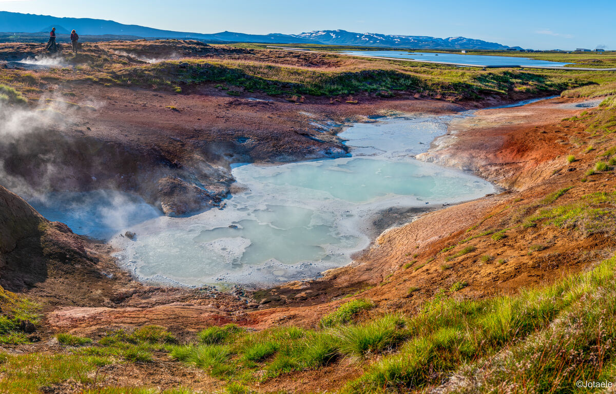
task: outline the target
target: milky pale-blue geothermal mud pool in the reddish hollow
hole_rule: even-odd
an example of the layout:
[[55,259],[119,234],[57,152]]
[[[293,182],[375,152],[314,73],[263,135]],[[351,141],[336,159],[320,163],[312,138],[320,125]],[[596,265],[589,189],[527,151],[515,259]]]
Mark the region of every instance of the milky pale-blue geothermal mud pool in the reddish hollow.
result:
[[[33,202],[75,232],[107,238],[142,280],[274,285],[318,277],[370,245],[379,211],[434,207],[495,191],[475,176],[413,159],[450,116],[382,118],[347,127],[351,155],[283,165],[235,165],[243,192],[187,218],[168,218],[118,192]],[[68,208],[67,208],[68,207]],[[122,234],[130,230],[134,239]]]

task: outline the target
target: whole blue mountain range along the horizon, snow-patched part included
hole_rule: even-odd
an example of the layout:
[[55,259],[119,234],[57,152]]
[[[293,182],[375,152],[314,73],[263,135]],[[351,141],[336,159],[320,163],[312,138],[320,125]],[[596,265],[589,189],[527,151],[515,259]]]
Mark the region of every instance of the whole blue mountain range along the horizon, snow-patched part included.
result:
[[[123,25],[111,20],[92,18],[57,18],[47,15],[0,11],[0,32],[47,34],[55,26],[59,34],[75,29],[81,36],[135,36],[143,38],[198,39],[211,42],[264,42],[271,44],[360,45],[365,47],[399,47],[411,49],[495,49],[509,47],[466,37],[435,38],[375,33],[352,33],[346,30],[321,30],[301,34],[244,34],[223,31],[202,34],[160,30],[139,25]],[[518,48],[518,47],[516,47]]]

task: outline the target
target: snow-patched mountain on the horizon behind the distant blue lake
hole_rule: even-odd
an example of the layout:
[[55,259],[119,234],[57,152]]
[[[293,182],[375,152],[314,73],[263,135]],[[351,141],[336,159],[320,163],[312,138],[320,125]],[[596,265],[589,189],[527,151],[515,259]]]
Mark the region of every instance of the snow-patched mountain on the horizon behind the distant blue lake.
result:
[[404,47],[413,49],[507,49],[506,45],[466,37],[436,38],[392,34],[353,33],[346,30],[320,30],[295,34],[302,40],[330,45],[363,45],[367,47]]

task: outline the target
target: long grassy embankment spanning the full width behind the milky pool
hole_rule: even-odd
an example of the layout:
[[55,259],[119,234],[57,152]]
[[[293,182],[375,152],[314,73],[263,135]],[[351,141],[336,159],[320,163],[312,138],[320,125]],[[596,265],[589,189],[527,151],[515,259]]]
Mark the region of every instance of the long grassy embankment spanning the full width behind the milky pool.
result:
[[[63,85],[69,82],[139,86],[176,93],[182,93],[191,85],[210,83],[229,95],[262,92],[293,99],[302,95],[339,97],[367,93],[391,97],[418,94],[460,101],[480,100],[490,95],[548,95],[616,79],[614,73],[481,70],[322,53],[301,54],[298,58],[293,52],[267,49],[240,55],[213,52],[206,58],[136,64],[118,55],[117,51],[105,50],[104,44],[90,49],[91,46],[87,44],[86,50],[76,57],[66,55],[65,60],[73,67],[36,72],[4,70],[0,83],[32,97],[47,94],[50,86],[63,90]],[[315,65],[312,61],[315,58],[311,57],[318,57],[320,63]],[[63,93],[70,93],[70,89]]]

